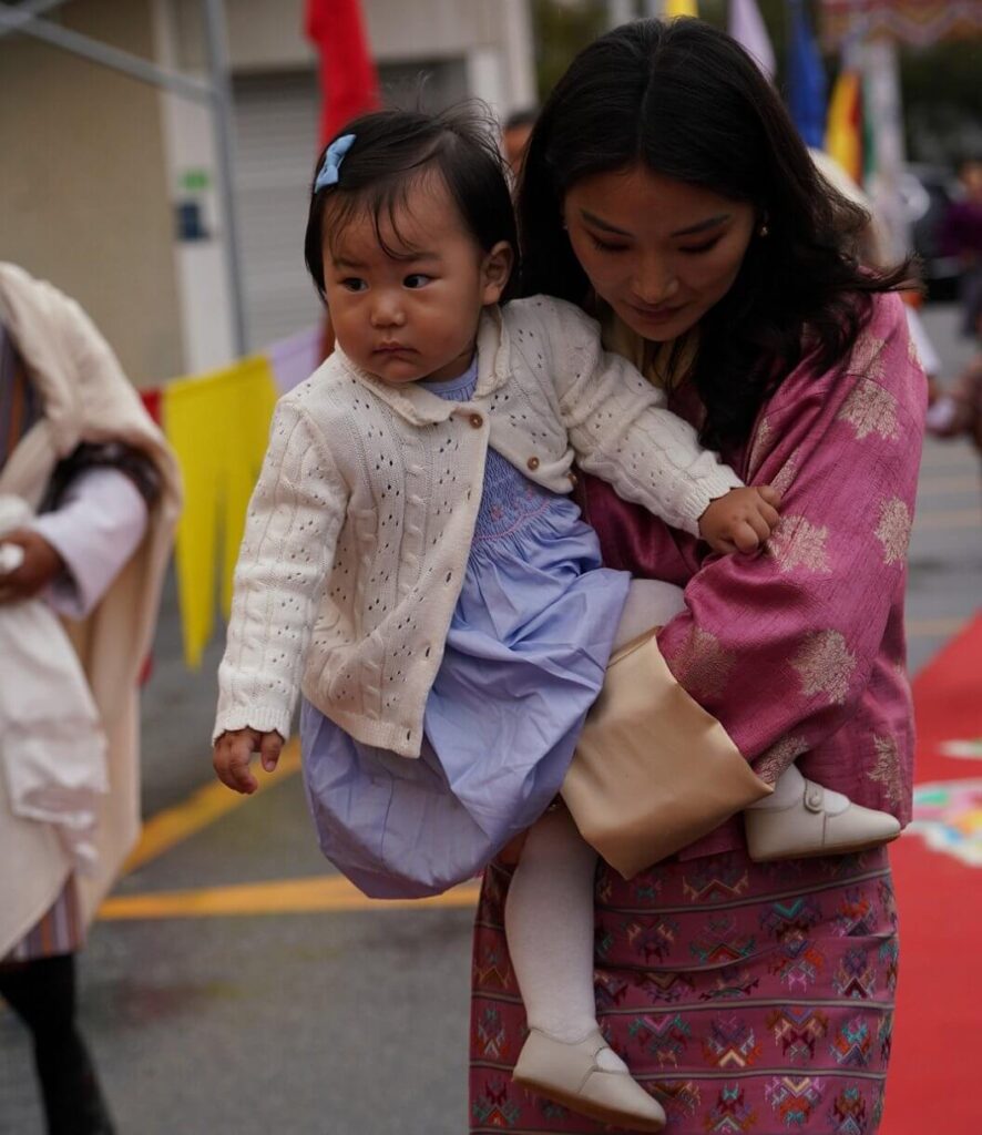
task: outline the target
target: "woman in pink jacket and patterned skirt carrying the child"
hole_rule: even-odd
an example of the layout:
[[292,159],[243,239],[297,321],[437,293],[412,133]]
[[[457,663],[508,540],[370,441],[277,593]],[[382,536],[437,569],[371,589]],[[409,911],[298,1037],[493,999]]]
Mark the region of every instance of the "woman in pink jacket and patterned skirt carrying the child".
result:
[[[628,24],[573,61],[519,220],[524,289],[594,312],[705,443],[783,491],[767,550],[717,557],[584,478],[606,563],[686,587],[658,637],[674,681],[759,775],[797,759],[907,823],[925,385],[890,294],[904,268],[851,259],[862,210],[820,179],[750,58],[696,20]],[[794,822],[836,796],[806,784],[782,806]],[[512,1082],[507,884],[488,871],[477,920],[471,1129],[598,1132]],[[602,867],[596,906],[602,1027],[668,1130],[876,1130],[897,966],[882,849],[755,864],[731,819],[630,882]]]

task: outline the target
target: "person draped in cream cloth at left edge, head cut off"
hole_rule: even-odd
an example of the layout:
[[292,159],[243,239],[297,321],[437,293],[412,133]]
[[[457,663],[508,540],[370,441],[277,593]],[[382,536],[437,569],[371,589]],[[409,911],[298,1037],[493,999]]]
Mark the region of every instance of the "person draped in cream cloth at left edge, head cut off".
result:
[[137,684],[178,511],[175,460],[92,321],[0,263],[0,995],[50,1135],[114,1129],[75,955],[139,834]]

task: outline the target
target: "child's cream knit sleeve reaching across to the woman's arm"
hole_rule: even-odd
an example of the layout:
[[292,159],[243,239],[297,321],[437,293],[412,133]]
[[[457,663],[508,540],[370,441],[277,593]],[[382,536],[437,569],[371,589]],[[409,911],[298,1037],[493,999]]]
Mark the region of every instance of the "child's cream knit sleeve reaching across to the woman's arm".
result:
[[553,380],[580,466],[626,501],[698,536],[710,502],[744,482],[699,445],[688,422],[665,409],[662,390],[626,359],[603,350],[593,319],[553,302]]

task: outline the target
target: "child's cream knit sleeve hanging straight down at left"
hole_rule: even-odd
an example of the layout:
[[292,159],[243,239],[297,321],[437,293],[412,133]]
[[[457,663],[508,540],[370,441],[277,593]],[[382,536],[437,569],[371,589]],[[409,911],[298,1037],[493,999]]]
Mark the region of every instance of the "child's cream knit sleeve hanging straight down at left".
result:
[[289,735],[317,604],[347,488],[320,432],[279,403],[235,569],[213,739],[235,729]]

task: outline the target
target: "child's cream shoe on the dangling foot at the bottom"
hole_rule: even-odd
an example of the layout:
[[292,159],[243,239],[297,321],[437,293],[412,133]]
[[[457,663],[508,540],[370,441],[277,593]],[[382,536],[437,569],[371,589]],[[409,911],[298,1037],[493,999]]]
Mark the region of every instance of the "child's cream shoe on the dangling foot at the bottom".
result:
[[515,1083],[605,1124],[632,1132],[662,1130],[661,1104],[630,1073],[597,1067],[597,1053],[605,1048],[598,1031],[566,1044],[534,1028],[519,1053]]

